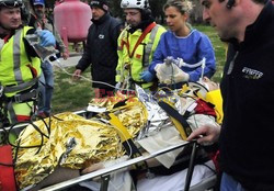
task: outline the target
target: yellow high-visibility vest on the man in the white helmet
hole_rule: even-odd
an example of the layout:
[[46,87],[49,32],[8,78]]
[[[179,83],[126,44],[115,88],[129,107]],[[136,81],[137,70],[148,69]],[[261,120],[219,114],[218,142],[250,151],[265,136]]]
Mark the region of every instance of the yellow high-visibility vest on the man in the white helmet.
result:
[[[118,65],[116,67],[116,81],[122,82],[128,75],[133,78],[133,80],[137,82],[144,82],[140,79],[140,74],[146,70],[149,66],[149,64],[152,60],[153,53],[157,48],[157,45],[160,41],[161,34],[165,32],[165,29],[161,25],[156,25],[150,33],[146,35],[146,37],[142,40],[142,42],[138,45],[138,47],[135,49],[133,57],[128,55],[129,53],[133,53],[135,44],[139,40],[140,35],[142,34],[141,30],[135,31],[133,34],[130,34],[127,29],[125,29],[118,40]],[[127,46],[123,45],[123,42],[128,42],[129,44],[129,50],[127,49]],[[130,65],[130,74],[128,71],[125,71],[124,67],[125,64]],[[152,82],[142,83],[142,88],[149,88],[152,86]]]

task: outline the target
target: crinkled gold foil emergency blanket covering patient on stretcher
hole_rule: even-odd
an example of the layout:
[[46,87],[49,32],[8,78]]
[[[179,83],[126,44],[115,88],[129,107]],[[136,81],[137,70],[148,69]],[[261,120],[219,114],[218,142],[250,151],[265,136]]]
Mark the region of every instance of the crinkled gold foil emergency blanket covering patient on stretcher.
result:
[[[111,112],[119,117],[132,136],[136,136],[147,122],[147,111],[136,99]],[[35,122],[46,136],[49,135],[49,138],[43,137],[43,146],[38,154],[36,154],[38,148],[19,150],[15,175],[21,189],[38,183],[52,173],[67,151],[66,144],[72,137],[75,137],[76,146],[60,164],[61,167],[83,169],[92,164],[124,155],[117,131],[111,124],[95,119],[84,120],[72,113],[58,114],[56,117],[50,119],[50,135],[42,121]],[[49,124],[49,119],[45,121]],[[21,133],[19,141],[21,141],[21,147],[41,145],[42,135],[28,125]]]

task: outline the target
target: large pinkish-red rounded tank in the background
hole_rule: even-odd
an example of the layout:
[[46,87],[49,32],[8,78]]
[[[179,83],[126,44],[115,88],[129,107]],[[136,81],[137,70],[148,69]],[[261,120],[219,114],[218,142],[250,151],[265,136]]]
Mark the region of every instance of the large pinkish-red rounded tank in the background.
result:
[[71,43],[87,40],[91,16],[90,7],[80,0],[65,0],[54,9],[57,31],[64,41],[67,36],[68,42]]

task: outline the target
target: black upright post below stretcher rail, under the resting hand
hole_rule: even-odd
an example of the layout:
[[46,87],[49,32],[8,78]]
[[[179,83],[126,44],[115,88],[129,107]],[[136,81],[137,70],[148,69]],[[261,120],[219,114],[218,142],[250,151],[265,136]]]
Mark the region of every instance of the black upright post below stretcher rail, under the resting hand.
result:
[[192,143],[193,144],[192,144],[191,160],[190,160],[190,165],[189,165],[189,169],[187,169],[187,173],[186,173],[186,178],[185,178],[184,191],[190,190],[192,175],[193,175],[193,170],[194,170],[194,166],[195,166],[194,160],[196,158],[197,148],[198,148],[198,144],[196,141],[193,141]]

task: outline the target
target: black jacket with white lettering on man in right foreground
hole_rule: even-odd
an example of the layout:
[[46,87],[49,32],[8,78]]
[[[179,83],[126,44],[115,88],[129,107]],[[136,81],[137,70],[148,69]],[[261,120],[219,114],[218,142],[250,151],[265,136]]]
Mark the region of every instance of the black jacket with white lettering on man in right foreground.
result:
[[[233,66],[232,66],[233,63]],[[274,190],[274,7],[231,43],[221,81],[222,169],[248,190]]]

